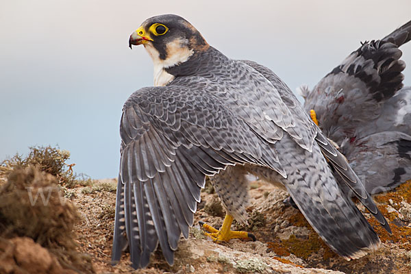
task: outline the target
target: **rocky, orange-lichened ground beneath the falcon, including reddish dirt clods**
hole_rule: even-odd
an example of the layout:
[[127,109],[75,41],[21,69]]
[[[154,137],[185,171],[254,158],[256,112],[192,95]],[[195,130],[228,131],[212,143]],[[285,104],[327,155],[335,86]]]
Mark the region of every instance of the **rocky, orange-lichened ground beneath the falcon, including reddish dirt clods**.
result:
[[[116,180],[65,187],[62,195],[79,212],[73,237],[79,254],[76,260],[85,262],[81,270],[70,268],[61,258],[56,260],[55,252],[32,239],[16,237],[0,238],[0,273],[411,273],[411,181],[374,197],[390,220],[393,235],[366,214],[382,239],[382,247],[350,262],[323,243],[299,210],[283,203],[286,192],[261,181],[251,182],[250,188],[249,225],[234,223],[234,228],[253,232],[256,242],[216,244],[203,236],[198,221],[219,227],[224,216],[219,199],[208,187],[201,194],[195,227],[189,238],[179,243],[175,264],[166,264],[157,251],[147,269],[134,271],[128,254],[118,265],[110,264]],[[362,206],[359,208],[364,212]]]

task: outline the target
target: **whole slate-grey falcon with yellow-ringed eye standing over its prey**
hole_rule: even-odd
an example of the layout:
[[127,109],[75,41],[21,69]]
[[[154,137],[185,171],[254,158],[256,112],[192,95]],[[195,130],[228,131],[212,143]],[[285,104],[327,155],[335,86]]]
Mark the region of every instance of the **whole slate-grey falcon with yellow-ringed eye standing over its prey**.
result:
[[135,269],[160,245],[173,264],[188,237],[200,191],[210,176],[226,209],[215,241],[244,238],[247,174],[286,189],[310,225],[347,260],[379,247],[379,238],[343,192],[327,160],[379,223],[390,227],[345,158],[329,143],[277,75],[232,60],[208,45],[184,18],[154,16],[129,38],[154,64],[154,87],[140,88],[121,117],[121,163],[112,262],[129,246]]

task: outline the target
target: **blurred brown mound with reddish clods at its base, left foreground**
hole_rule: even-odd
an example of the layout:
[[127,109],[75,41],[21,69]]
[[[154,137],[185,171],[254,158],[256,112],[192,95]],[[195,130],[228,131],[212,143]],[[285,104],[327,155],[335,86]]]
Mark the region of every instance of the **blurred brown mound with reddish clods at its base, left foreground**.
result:
[[76,250],[77,221],[79,214],[62,197],[56,177],[34,166],[13,170],[0,188],[0,258],[14,260],[4,264],[9,270],[14,262],[29,273],[43,273],[30,272],[38,267],[46,267],[44,273],[62,267],[92,273],[90,260]]

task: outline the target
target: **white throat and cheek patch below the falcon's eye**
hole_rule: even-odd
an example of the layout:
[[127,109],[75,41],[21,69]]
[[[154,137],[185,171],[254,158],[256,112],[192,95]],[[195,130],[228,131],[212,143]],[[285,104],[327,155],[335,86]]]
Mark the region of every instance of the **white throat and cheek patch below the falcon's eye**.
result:
[[188,40],[174,40],[169,42],[166,47],[167,58],[160,59],[160,54],[157,49],[147,43],[144,45],[149,53],[154,64],[154,86],[166,86],[175,78],[174,75],[167,73],[165,69],[186,62],[194,53],[192,49],[188,49]]

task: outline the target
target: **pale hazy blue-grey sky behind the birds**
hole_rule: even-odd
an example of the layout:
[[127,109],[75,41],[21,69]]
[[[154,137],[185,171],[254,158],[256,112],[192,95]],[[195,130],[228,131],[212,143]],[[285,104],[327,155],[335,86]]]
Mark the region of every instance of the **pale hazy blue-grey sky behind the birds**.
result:
[[[119,121],[153,64],[129,35],[146,18],[178,14],[229,58],[312,88],[360,41],[411,20],[411,1],[0,1],[0,161],[30,146],[71,151],[75,173],[119,172]],[[401,47],[411,66],[411,43]],[[404,72],[411,85],[411,69]]]

